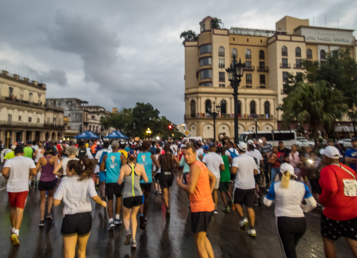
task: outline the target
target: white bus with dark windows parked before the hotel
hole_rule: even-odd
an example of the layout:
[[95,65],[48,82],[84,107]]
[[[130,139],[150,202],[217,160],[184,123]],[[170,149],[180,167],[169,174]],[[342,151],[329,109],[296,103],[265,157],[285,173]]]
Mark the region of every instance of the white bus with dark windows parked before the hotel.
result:
[[[278,142],[282,141],[285,147],[291,147],[293,144],[296,144],[296,130],[288,130],[288,131],[279,131],[274,130],[274,138],[272,131],[258,131],[258,139],[261,137],[265,137],[267,143],[271,145],[278,146]],[[256,138],[255,132],[242,132],[239,135],[240,142],[247,142],[249,139]],[[257,139],[257,140],[258,140]]]

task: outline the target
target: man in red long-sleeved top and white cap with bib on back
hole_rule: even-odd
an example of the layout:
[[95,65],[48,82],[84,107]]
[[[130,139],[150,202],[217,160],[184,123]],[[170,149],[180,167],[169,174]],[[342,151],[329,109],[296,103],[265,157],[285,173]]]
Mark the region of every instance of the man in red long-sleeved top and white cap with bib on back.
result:
[[335,240],[345,237],[357,257],[357,174],[339,164],[340,153],[335,147],[320,151],[326,167],[321,170],[320,202],[325,206],[321,216],[321,235],[326,258],[337,257]]

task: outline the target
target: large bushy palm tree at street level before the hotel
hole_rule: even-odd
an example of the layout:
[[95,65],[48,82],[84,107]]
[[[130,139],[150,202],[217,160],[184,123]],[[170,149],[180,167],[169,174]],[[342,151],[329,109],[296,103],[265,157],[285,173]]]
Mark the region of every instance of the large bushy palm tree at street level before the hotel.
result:
[[347,112],[345,102],[341,91],[326,87],[326,81],[314,84],[299,82],[277,109],[284,112],[284,126],[292,121],[301,125],[307,123],[317,146],[318,131],[321,128],[327,132],[334,129],[335,121],[341,120]]

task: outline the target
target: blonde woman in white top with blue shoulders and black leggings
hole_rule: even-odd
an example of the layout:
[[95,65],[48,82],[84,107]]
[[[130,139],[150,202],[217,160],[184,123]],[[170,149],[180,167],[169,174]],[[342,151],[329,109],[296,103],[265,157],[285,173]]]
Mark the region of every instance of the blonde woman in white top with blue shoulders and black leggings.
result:
[[[316,207],[316,201],[306,184],[294,180],[294,168],[288,163],[280,166],[281,181],[269,189],[263,202],[271,206],[275,202],[275,216],[278,237],[286,258],[296,258],[296,246],[306,231],[304,212]],[[305,199],[306,204],[302,205]]]

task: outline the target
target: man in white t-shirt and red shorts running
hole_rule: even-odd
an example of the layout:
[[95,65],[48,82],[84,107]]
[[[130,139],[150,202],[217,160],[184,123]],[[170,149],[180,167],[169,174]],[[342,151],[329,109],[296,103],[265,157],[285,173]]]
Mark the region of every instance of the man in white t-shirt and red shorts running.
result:
[[15,158],[7,160],[2,175],[7,180],[6,191],[10,202],[10,221],[11,221],[11,242],[15,245],[19,242],[19,230],[24,217],[24,208],[29,193],[29,175],[36,176],[36,165],[31,158],[23,157],[24,150],[17,146],[14,150]]

